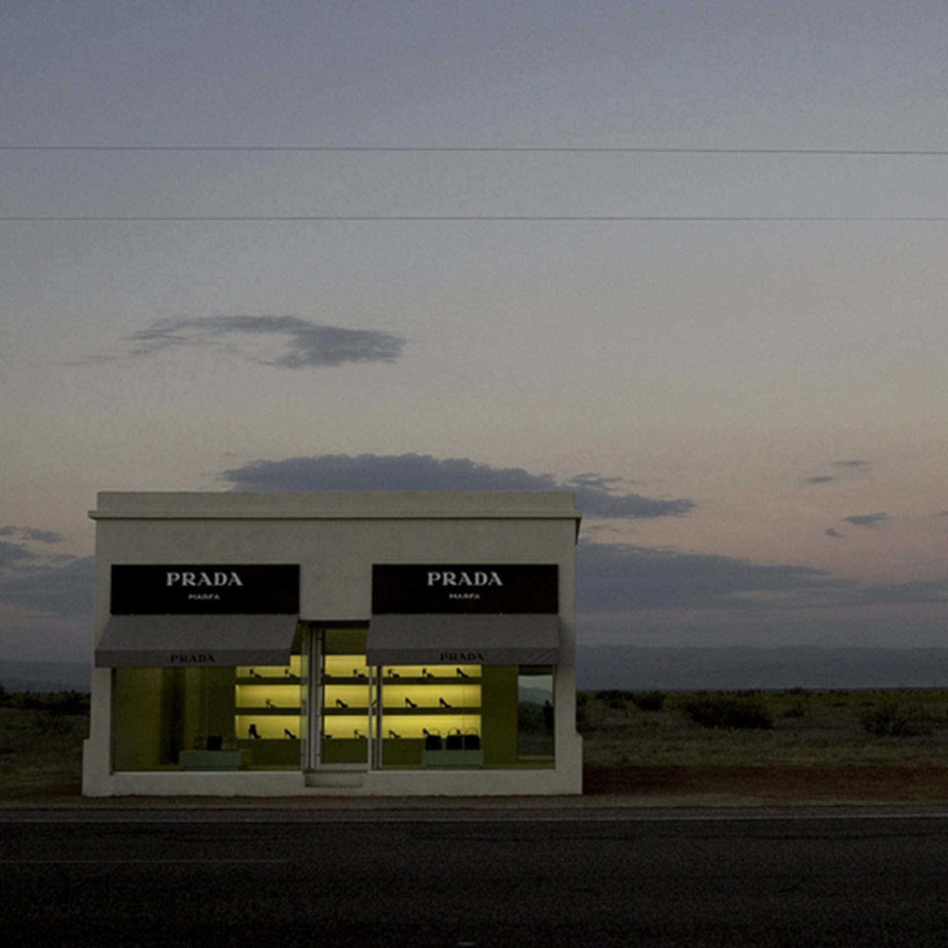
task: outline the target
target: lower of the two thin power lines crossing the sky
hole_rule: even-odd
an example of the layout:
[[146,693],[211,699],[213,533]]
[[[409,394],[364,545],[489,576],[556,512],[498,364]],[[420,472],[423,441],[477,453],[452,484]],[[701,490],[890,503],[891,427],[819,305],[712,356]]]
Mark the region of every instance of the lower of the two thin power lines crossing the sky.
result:
[[253,224],[253,223],[816,223],[816,224],[944,224],[948,216],[864,215],[749,215],[733,214],[286,214],[286,215],[117,215],[82,214],[69,216],[9,215],[0,223],[90,224],[90,223],[172,223],[172,224]]

